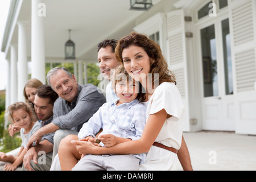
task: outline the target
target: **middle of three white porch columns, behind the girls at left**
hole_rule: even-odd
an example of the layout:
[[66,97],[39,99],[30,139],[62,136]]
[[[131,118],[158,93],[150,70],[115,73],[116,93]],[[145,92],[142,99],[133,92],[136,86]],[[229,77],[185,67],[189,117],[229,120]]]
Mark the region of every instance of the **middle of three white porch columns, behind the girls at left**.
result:
[[18,22],[18,101],[25,101],[24,85],[27,82],[27,22]]

